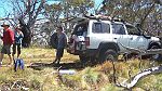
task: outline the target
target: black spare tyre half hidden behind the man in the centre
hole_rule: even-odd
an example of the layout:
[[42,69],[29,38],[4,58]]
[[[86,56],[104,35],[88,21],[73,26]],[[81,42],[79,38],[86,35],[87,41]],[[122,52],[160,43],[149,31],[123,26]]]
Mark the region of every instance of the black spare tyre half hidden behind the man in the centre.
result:
[[56,49],[57,48],[57,32],[54,32],[51,38],[50,38],[50,46],[52,46],[52,48]]

